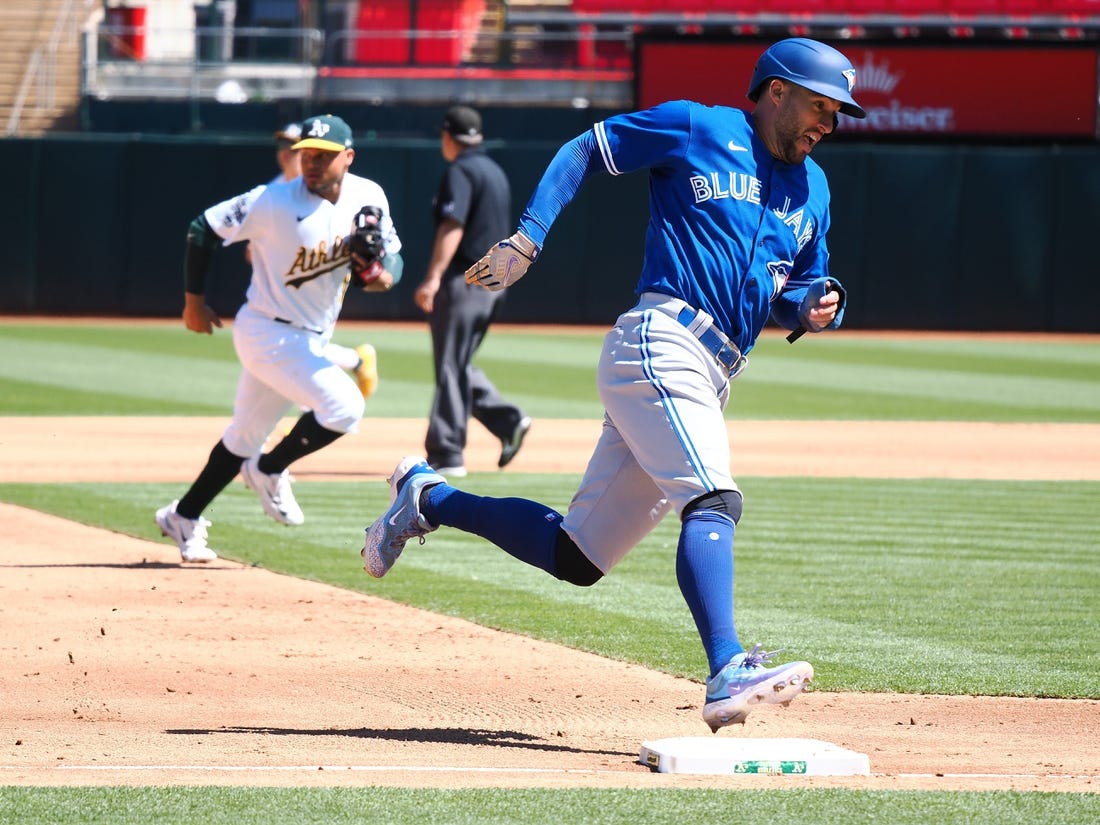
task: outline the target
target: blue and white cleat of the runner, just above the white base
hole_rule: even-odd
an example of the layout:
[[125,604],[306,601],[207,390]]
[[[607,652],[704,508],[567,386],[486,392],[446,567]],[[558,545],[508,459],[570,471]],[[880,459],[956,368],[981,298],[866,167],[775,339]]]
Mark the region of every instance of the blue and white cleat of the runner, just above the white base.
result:
[[789,705],[814,678],[810,662],[788,662],[766,668],[765,662],[776,653],[760,651],[757,645],[747,653],[738,653],[706,680],[706,704],[703,722],[711,733],[718,733],[726,725],[745,724],[751,705]]

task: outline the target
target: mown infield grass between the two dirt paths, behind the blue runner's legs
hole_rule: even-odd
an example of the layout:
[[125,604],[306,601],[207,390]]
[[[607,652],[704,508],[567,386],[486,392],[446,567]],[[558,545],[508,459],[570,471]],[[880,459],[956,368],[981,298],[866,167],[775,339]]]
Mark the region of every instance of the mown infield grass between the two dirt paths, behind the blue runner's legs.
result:
[[[578,476],[471,474],[563,508]],[[826,691],[1100,697],[1100,483],[743,480],[736,539],[746,642],[806,659]],[[180,485],[0,485],[0,499],[161,542],[151,513]],[[440,530],[385,579],[362,571],[363,528],[384,482],[299,482],[309,514],[288,531],[234,484],[208,510],[232,559],[700,679],[702,649],[675,583],[667,518],[592,588],[559,582],[487,542]],[[358,503],[349,507],[349,502]],[[809,503],[809,504],[806,504]],[[828,503],[828,506],[823,506]],[[659,639],[659,644],[654,644]]]

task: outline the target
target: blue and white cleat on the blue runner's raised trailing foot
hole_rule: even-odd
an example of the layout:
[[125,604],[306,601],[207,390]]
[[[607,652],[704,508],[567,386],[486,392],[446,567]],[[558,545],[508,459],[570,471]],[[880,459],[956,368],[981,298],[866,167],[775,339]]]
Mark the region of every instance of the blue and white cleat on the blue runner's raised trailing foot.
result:
[[420,515],[420,494],[447,480],[418,455],[406,455],[389,476],[389,509],[366,528],[366,542],[360,553],[363,570],[381,579],[394,566],[411,538],[420,539],[437,529]]

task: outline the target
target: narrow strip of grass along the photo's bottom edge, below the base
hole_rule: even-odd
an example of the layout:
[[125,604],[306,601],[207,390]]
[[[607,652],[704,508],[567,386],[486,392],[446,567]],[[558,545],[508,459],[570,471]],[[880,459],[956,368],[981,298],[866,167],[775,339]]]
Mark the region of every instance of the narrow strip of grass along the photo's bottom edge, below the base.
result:
[[1092,825],[1098,815],[1096,795],[1013,791],[0,788],[0,822],[19,825]]

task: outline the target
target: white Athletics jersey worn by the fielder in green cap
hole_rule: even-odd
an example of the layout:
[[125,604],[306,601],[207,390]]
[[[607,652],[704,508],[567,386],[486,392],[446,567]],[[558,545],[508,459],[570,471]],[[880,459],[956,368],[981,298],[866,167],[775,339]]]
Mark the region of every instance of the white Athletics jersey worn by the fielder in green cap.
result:
[[249,305],[271,318],[328,332],[337,322],[350,283],[348,235],[364,206],[382,209],[386,254],[402,242],[389,201],[373,180],[348,173],[330,204],[296,177],[257,186],[204,212],[224,245],[252,241]]

